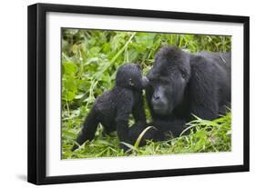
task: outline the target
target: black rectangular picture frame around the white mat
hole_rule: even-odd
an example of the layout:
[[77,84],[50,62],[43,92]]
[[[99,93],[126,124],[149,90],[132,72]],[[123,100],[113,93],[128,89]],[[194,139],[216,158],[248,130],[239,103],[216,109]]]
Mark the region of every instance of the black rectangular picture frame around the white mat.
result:
[[[78,174],[46,176],[46,13],[76,13],[90,15],[121,15],[189,21],[211,21],[243,24],[243,164],[124,173]],[[237,15],[208,15],[153,10],[123,9],[80,5],[36,4],[28,6],[28,153],[27,181],[36,184],[78,183],[133,178],[231,173],[249,171],[249,33],[250,18]]]

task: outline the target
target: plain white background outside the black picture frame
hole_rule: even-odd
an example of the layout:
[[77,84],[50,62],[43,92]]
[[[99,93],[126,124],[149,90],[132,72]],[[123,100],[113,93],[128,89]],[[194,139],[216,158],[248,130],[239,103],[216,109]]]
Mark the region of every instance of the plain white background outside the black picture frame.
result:
[[[33,187],[26,183],[26,6],[43,1],[3,1],[1,4],[1,152],[0,186]],[[44,1],[76,5],[101,5],[127,8],[200,12],[251,16],[251,172],[179,176],[154,179],[112,181],[103,183],[58,184],[48,187],[230,187],[255,186],[255,98],[256,94],[256,12],[253,1],[179,0],[73,0]],[[254,35],[253,35],[254,34]],[[254,52],[254,53],[252,53]],[[254,138],[252,137],[254,136]],[[247,184],[247,185],[246,185]]]

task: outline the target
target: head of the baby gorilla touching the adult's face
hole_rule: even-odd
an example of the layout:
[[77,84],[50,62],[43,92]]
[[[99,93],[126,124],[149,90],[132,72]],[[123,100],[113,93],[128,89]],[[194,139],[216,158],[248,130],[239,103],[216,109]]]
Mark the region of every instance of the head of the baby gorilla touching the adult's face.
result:
[[118,68],[116,85],[141,90],[148,85],[148,78],[142,76],[141,69],[137,64],[123,64]]

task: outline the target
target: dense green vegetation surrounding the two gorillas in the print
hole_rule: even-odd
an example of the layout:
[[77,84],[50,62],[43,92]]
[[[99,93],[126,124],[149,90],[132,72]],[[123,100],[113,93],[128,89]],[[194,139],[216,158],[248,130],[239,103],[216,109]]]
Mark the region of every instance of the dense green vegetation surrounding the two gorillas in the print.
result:
[[[116,134],[102,137],[101,126],[92,142],[75,152],[70,151],[91,105],[99,94],[113,86],[120,64],[137,63],[145,74],[162,45],[177,45],[192,53],[202,50],[226,52],[230,51],[230,41],[230,36],[63,29],[62,158],[127,155],[119,149]],[[147,105],[146,114],[150,121]],[[230,151],[230,117],[230,113],[214,121],[196,117],[187,124],[185,131],[189,135],[181,134],[179,138],[160,143],[148,142],[140,148],[138,143],[129,145],[131,155]]]

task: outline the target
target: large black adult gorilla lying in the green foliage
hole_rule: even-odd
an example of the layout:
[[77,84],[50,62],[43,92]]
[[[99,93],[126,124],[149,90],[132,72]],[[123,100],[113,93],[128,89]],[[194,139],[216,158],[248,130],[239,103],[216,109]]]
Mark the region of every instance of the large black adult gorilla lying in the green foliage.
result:
[[[212,120],[230,106],[230,53],[189,54],[174,46],[160,48],[148,74],[146,96],[158,131],[146,139],[179,136],[194,117]],[[138,126],[130,134],[140,132]],[[157,134],[156,134],[157,133]]]

